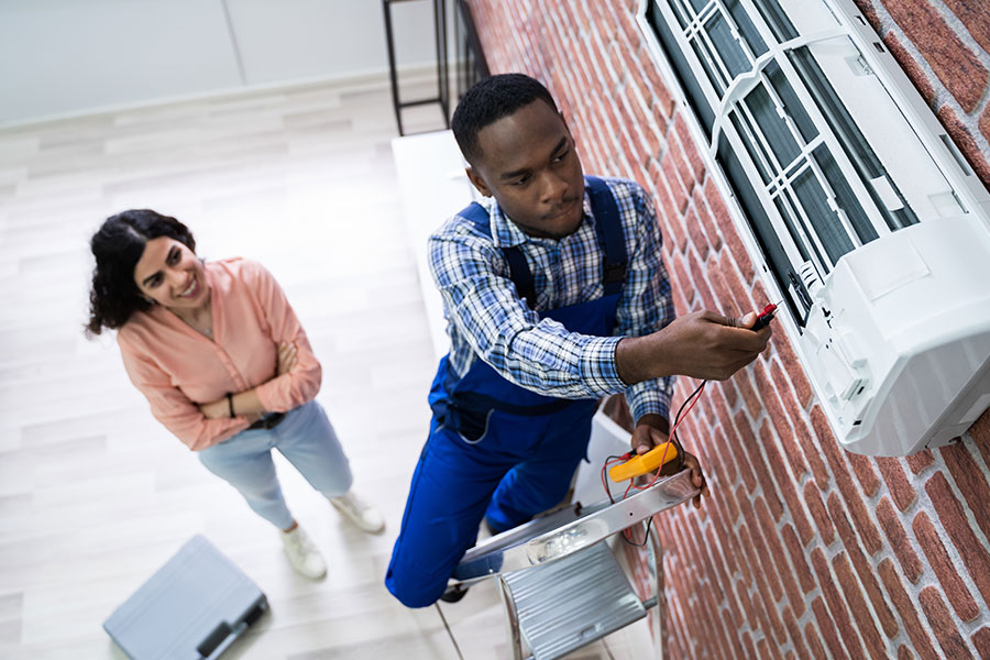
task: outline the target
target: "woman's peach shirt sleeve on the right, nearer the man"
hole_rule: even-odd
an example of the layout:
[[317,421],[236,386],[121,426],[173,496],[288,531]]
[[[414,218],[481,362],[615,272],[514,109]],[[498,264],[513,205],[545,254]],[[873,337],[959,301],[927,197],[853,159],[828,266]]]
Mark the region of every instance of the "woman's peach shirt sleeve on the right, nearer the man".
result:
[[[246,262],[245,262],[246,264]],[[258,309],[268,324],[272,341],[277,346],[282,342],[295,344],[296,365],[255,388],[257,398],[266,410],[285,413],[312,400],[320,391],[322,371],[309,345],[309,339],[296,318],[292,305],[278,283],[256,262],[245,265],[245,284],[255,296]]]

